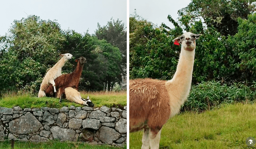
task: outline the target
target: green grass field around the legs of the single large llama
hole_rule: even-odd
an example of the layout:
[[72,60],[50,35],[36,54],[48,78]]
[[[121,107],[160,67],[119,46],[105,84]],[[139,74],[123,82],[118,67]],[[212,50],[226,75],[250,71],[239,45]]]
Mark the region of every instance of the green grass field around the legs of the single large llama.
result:
[[[247,137],[256,138],[256,104],[226,104],[171,118],[162,128],[160,149],[247,149]],[[142,131],[130,133],[130,149],[140,149],[141,140]]]

